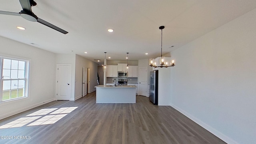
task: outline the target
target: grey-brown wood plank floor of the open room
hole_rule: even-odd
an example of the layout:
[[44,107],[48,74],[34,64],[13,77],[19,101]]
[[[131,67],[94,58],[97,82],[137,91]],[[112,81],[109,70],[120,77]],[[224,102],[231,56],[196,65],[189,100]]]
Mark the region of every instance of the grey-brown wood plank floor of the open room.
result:
[[[0,129],[1,144],[226,144],[171,106],[148,97],[136,104],[96,104],[95,92],[54,101],[0,120],[0,126],[43,108],[78,107],[54,124]],[[49,114],[46,114],[49,115]],[[16,137],[14,137],[16,136]],[[17,137],[25,136],[25,137]]]

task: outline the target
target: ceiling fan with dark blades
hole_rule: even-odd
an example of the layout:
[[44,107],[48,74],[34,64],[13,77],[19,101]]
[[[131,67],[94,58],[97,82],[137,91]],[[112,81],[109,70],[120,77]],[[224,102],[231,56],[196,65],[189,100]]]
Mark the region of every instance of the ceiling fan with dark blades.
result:
[[48,26],[54,30],[57,30],[59,32],[62,32],[63,34],[67,34],[68,32],[65,30],[62,30],[61,28],[54,26],[53,24],[50,24],[49,22],[46,22],[45,20],[42,20],[41,18],[38,18],[31,9],[31,6],[36,6],[36,2],[34,0],[20,0],[20,4],[23,10],[20,12],[6,12],[6,11],[0,11],[0,14],[6,14],[6,15],[12,15],[12,16],[21,16],[22,18],[25,18],[26,20],[32,21],[32,22],[39,22],[41,24],[44,24],[45,26]]

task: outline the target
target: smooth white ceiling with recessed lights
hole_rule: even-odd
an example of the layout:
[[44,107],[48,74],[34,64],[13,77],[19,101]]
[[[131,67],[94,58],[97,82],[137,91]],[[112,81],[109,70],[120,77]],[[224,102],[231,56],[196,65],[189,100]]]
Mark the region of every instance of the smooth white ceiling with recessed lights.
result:
[[[160,56],[159,26],[165,26],[163,54],[166,54],[256,8],[256,0],[35,2],[32,11],[36,16],[69,33],[62,34],[20,16],[0,14],[0,36],[58,54],[78,54],[92,61],[104,61],[104,52],[111,60],[126,60],[126,52],[130,53],[128,60],[155,58]],[[22,8],[19,0],[0,0],[0,10],[20,12]],[[26,30],[18,30],[16,26]],[[109,28],[114,32],[107,32]]]

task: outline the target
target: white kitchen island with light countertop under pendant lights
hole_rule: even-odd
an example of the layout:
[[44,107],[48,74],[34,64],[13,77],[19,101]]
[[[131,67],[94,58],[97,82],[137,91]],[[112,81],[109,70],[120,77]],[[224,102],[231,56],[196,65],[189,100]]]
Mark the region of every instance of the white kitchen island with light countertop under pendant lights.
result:
[[136,103],[136,86],[98,85],[96,103]]

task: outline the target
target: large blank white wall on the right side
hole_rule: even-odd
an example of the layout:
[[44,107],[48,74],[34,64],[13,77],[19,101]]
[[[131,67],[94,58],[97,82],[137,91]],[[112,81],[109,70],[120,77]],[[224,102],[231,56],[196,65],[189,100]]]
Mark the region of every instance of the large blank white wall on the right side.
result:
[[256,9],[172,52],[171,106],[229,144],[256,142]]

